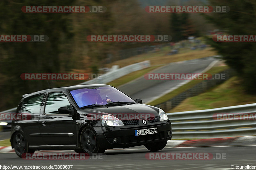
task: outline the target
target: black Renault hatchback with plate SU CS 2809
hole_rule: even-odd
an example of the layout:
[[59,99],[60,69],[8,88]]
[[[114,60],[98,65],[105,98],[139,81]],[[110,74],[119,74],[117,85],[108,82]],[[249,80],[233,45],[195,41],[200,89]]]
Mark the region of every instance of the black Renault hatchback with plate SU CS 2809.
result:
[[24,96],[12,122],[16,154],[36,150],[102,153],[106,149],[145,145],[163,149],[172,138],[163,110],[141,104],[110,85],[75,85]]

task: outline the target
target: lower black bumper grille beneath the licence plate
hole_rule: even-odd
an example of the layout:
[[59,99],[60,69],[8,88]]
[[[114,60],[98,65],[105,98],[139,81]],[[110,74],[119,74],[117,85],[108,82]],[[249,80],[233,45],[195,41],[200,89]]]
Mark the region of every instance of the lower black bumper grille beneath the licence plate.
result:
[[148,141],[148,140],[155,140],[155,139],[162,139],[164,138],[164,132],[150,134],[150,135],[141,135],[141,136],[126,136],[125,143],[132,143],[132,142],[141,142],[141,141]]

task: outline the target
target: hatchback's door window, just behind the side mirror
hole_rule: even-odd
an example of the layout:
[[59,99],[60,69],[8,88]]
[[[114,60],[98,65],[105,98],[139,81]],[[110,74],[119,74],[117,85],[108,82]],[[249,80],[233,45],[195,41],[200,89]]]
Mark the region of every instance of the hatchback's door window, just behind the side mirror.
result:
[[58,109],[60,107],[68,107],[70,109],[70,103],[66,95],[62,92],[51,92],[48,94],[45,104],[45,114],[60,114]]

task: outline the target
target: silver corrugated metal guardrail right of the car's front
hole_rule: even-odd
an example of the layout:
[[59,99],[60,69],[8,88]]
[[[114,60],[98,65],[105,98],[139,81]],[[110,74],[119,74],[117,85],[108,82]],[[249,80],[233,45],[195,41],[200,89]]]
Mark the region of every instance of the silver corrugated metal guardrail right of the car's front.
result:
[[167,115],[172,122],[172,137],[174,139],[256,135],[255,120],[215,120],[213,117],[214,114],[228,113],[256,113],[256,103],[167,113]]

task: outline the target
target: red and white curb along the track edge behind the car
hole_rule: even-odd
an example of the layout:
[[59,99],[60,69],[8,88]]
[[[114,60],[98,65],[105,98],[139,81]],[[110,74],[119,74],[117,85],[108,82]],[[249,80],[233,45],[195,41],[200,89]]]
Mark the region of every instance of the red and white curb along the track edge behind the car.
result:
[[[180,147],[209,147],[209,146],[244,146],[256,145],[256,136],[245,137],[222,137],[210,139],[196,139],[196,140],[169,140],[166,147],[180,148]],[[143,149],[141,146],[132,147],[134,149]],[[129,149],[108,149],[108,151],[129,150]],[[70,151],[36,151],[36,152],[70,152]],[[11,146],[1,147],[0,153],[14,153]]]

